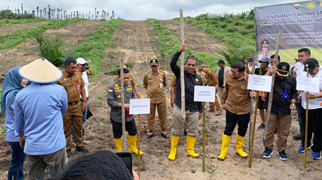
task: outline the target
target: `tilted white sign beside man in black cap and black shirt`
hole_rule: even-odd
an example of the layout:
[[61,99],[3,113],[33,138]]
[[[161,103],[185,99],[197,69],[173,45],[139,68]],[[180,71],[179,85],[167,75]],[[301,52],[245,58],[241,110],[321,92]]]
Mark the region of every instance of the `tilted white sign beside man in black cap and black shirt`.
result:
[[248,90],[270,92],[272,88],[272,76],[259,76],[250,74],[248,77]]

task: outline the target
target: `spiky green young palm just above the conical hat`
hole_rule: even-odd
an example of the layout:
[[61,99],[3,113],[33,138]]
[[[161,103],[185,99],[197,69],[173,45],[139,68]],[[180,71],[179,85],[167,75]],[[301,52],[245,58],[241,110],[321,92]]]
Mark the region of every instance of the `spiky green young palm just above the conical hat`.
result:
[[53,36],[44,36],[43,34],[35,34],[36,42],[38,44],[38,56],[50,60],[56,67],[62,67],[64,63],[64,55],[60,48],[64,44],[63,37],[55,34]]

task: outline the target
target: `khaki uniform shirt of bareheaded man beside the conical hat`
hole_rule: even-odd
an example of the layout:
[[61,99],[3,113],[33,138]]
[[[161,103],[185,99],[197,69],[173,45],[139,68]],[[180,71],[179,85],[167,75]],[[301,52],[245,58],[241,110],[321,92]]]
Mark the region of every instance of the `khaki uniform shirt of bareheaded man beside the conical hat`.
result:
[[[70,75],[66,70],[62,70],[63,77],[59,81],[55,82],[57,85],[61,85],[65,88],[67,92],[68,103],[79,101],[80,92],[77,92],[77,85],[80,85],[80,88],[85,86],[85,82],[82,78],[81,72],[76,71],[74,75]],[[78,83],[77,83],[78,81]]]

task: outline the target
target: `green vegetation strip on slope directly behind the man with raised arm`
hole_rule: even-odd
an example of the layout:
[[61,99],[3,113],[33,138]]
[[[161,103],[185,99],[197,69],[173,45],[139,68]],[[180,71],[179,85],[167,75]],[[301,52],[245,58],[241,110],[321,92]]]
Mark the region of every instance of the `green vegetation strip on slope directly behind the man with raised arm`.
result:
[[[163,60],[171,59],[172,56],[177,52],[181,44],[180,40],[175,35],[173,35],[171,31],[159,20],[147,19],[146,21],[152,26],[153,30],[155,30],[156,34],[159,36],[159,40],[157,42],[160,43],[163,48],[158,51]],[[186,48],[185,58],[189,55],[189,53],[196,55],[200,62],[206,63],[210,68],[214,70],[218,68],[216,62],[221,57],[207,53],[198,53]]]

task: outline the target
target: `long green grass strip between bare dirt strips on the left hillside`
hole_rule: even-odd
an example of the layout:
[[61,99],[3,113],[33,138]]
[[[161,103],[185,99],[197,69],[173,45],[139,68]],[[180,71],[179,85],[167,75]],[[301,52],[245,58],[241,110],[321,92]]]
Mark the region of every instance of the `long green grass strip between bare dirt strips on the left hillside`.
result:
[[68,19],[63,21],[53,21],[48,24],[43,24],[31,28],[26,28],[23,30],[17,30],[15,32],[8,33],[5,35],[0,35],[0,50],[12,48],[17,44],[23,42],[24,40],[33,37],[36,33],[42,33],[45,30],[60,28],[62,26],[66,26],[80,21],[86,21],[86,19]]

